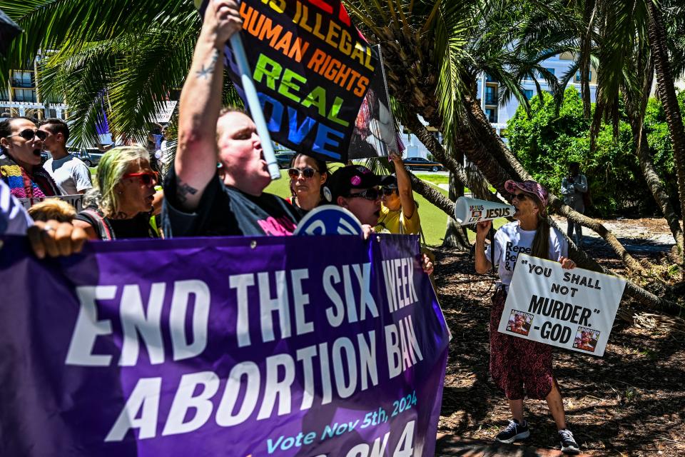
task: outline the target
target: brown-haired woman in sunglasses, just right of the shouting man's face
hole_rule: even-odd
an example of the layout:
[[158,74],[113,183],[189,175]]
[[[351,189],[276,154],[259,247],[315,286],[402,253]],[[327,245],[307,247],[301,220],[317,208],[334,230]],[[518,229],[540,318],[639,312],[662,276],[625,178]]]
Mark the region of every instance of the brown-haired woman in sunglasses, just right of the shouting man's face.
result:
[[298,206],[304,211],[315,209],[320,204],[330,203],[330,192],[325,199],[324,184],[328,179],[328,166],[325,161],[314,159],[305,154],[295,154],[290,161],[290,192],[293,196],[288,199],[290,204]]

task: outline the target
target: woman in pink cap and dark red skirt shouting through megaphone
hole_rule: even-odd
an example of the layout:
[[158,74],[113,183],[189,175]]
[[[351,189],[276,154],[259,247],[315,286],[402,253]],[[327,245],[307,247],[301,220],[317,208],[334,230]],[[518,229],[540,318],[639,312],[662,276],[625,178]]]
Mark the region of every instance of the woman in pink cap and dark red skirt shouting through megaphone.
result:
[[562,396],[552,373],[552,346],[497,331],[519,252],[559,261],[562,268],[576,265],[567,258],[569,246],[563,234],[549,226],[547,190],[535,181],[507,181],[504,189],[512,196],[515,221],[499,228],[494,235],[494,246],[488,246],[487,250],[485,237],[492,222],[478,223],[475,249],[476,271],[486,273],[492,268],[488,259],[490,249],[494,248],[492,258],[499,273],[490,313],[490,373],[509,400],[513,420],[495,439],[513,443],[530,436],[523,418],[525,386],[525,395],[529,398],[547,400],[557,424],[562,451],[578,453],[579,446],[567,428]]

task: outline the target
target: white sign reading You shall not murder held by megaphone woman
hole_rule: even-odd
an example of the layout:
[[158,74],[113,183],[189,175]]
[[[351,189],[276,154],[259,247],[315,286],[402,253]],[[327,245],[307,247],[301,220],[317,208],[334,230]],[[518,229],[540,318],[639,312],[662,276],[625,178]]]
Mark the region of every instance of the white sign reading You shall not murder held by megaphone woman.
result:
[[497,331],[603,356],[626,281],[519,252]]

